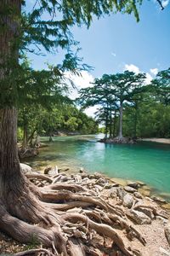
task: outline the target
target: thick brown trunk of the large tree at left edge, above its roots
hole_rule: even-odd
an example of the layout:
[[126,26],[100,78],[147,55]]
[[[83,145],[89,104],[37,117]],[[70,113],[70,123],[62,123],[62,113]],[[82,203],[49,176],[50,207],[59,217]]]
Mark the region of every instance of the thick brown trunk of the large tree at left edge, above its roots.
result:
[[[16,195],[20,194],[24,183],[17,148],[17,96],[12,70],[18,63],[15,38],[19,30],[20,2],[0,2],[0,9],[4,14],[0,16],[0,84],[3,88],[3,102],[0,103],[0,199],[3,201],[7,200],[11,191],[15,191]],[[9,9],[14,10],[12,15]]]

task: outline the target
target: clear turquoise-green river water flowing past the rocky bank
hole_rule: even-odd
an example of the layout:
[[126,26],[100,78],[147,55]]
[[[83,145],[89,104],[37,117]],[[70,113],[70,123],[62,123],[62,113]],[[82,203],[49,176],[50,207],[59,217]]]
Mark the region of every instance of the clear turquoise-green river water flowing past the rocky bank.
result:
[[159,193],[170,193],[170,145],[167,144],[105,144],[97,142],[94,136],[55,137],[54,143],[48,143],[30,163],[37,168],[57,165],[76,171],[83,167],[110,177],[140,180]]

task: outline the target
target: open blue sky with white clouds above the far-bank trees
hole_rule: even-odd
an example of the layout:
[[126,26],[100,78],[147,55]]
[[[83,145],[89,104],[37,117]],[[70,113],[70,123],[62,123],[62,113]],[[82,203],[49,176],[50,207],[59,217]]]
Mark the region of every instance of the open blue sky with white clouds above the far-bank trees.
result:
[[[90,72],[82,72],[82,77],[72,77],[77,87],[89,86],[94,78],[104,73],[124,70],[144,72],[150,82],[157,72],[170,67],[169,2],[162,1],[165,9],[161,10],[155,0],[144,1],[139,9],[139,22],[133,15],[116,14],[99,20],[94,18],[89,29],[85,26],[72,28],[82,48],[79,55],[84,63],[94,67]],[[41,69],[47,67],[47,62],[58,64],[61,54],[29,57],[32,66]]]

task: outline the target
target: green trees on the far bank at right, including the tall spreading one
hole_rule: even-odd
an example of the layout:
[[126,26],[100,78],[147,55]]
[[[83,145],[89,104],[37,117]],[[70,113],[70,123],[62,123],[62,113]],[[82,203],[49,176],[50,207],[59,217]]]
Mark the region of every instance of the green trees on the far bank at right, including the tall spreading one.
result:
[[104,74],[80,95],[82,108],[98,107],[95,117],[105,125],[105,138],[170,137],[170,69],[150,84],[144,73]]

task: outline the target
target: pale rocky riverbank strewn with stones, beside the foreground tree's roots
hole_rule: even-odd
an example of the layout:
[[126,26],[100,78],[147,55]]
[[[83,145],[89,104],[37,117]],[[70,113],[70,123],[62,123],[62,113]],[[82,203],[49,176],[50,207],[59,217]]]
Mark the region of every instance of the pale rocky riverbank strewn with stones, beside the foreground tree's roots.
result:
[[[89,241],[91,253],[89,251],[84,255],[170,255],[170,215],[162,207],[166,202],[156,196],[150,198],[144,195],[144,183],[127,182],[121,185],[114,178],[105,177],[100,173],[90,174],[84,172],[83,169],[79,173],[69,174],[68,169],[61,170],[57,166],[54,168],[48,166],[42,174],[34,172],[29,166],[22,164],[21,167],[26,177],[39,188],[54,184],[55,189],[57,187],[59,191],[62,191],[61,193],[64,192],[66,198],[69,196],[74,198],[73,208],[71,207],[72,201],[65,200],[57,203],[58,210],[60,207],[60,210],[64,211],[63,206],[65,206],[66,212],[77,212],[77,215],[82,213],[97,223],[109,224],[124,244],[122,246],[112,241],[111,237],[101,236],[94,230],[90,230],[88,236],[86,233],[88,231],[82,230],[80,233],[75,228],[74,234],[77,240]],[[80,188],[84,189],[82,193],[86,195],[83,197],[82,204],[77,199],[77,196],[82,194],[80,192],[76,194]],[[88,201],[84,198],[88,198]],[[95,207],[93,207],[94,204]],[[0,236],[0,253],[8,253],[7,244],[8,241],[5,241],[4,236],[3,242]],[[12,253],[19,252],[26,247],[15,241],[12,244]],[[126,247],[127,251],[123,247]],[[76,255],[79,256],[79,254]]]

